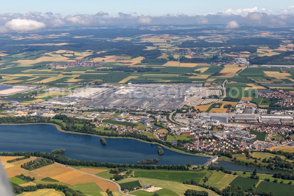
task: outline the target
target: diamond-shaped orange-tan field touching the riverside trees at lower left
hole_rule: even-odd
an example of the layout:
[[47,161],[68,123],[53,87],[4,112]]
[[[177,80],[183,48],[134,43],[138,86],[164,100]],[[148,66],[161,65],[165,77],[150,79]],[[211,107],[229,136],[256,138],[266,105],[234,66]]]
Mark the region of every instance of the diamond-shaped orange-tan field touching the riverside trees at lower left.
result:
[[53,176],[62,174],[64,172],[69,172],[71,170],[72,169],[70,169],[68,167],[64,167],[64,166],[61,166],[57,163],[54,163],[51,165],[47,165],[45,167],[38,168],[38,169],[34,170],[34,172],[37,172],[37,173],[44,175],[44,176],[53,177]]

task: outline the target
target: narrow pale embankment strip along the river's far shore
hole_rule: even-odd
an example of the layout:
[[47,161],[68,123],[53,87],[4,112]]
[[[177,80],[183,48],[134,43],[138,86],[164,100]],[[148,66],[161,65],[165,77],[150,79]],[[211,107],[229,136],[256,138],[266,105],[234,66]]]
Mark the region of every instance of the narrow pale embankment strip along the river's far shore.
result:
[[168,150],[172,150],[172,151],[175,151],[175,152],[179,152],[179,153],[182,153],[182,154],[186,154],[186,155],[194,155],[194,156],[201,156],[201,157],[208,157],[210,158],[211,156],[209,155],[200,155],[200,154],[192,154],[192,153],[188,153],[188,152],[184,152],[184,151],[181,151],[181,150],[178,150],[178,149],[175,149],[175,148],[170,148],[170,147],[167,147],[163,144],[160,144],[160,143],[157,143],[157,142],[148,142],[148,141],[145,141],[143,139],[138,139],[138,138],[133,138],[133,137],[108,137],[108,136],[104,136],[104,135],[98,135],[98,134],[90,134],[90,133],[81,133],[81,132],[74,132],[74,131],[66,131],[64,129],[62,129],[62,127],[58,124],[54,124],[54,123],[3,123],[3,124],[0,124],[0,125],[26,125],[26,124],[50,124],[50,125],[53,125],[56,127],[56,129],[60,132],[64,132],[64,133],[73,133],[73,134],[81,134],[81,135],[91,135],[91,136],[96,136],[96,137],[104,137],[104,138],[123,138],[123,139],[134,139],[134,140],[138,140],[140,142],[145,142],[145,143],[148,143],[148,144],[156,144],[156,145],[159,145],[159,146],[162,146]]

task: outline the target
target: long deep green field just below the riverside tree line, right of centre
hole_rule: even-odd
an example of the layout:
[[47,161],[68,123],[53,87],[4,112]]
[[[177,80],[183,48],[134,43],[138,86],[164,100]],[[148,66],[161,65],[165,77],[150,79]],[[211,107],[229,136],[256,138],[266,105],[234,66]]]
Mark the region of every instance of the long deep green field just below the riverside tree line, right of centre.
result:
[[184,180],[201,180],[205,175],[208,175],[207,170],[200,172],[195,171],[148,171],[135,170],[135,176],[144,178],[153,178],[159,180],[171,180],[176,182],[183,182]]

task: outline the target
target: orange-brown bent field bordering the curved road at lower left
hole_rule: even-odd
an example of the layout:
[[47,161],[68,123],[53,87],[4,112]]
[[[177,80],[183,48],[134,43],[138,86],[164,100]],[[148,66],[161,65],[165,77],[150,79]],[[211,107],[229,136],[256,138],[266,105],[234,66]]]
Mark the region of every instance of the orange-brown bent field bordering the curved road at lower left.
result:
[[103,191],[106,191],[106,189],[109,189],[112,191],[118,190],[115,184],[107,180],[103,180],[101,178],[94,177],[88,174],[83,174],[81,176],[74,177],[70,180],[64,181],[64,183],[70,184],[70,185],[85,184],[90,182],[95,182]]

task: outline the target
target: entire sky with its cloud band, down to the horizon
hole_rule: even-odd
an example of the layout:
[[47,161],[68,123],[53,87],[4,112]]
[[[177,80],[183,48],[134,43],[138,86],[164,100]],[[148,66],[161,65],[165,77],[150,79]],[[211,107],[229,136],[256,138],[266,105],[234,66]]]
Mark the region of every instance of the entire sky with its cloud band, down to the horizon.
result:
[[0,34],[93,25],[294,25],[293,0],[11,0],[0,6]]

